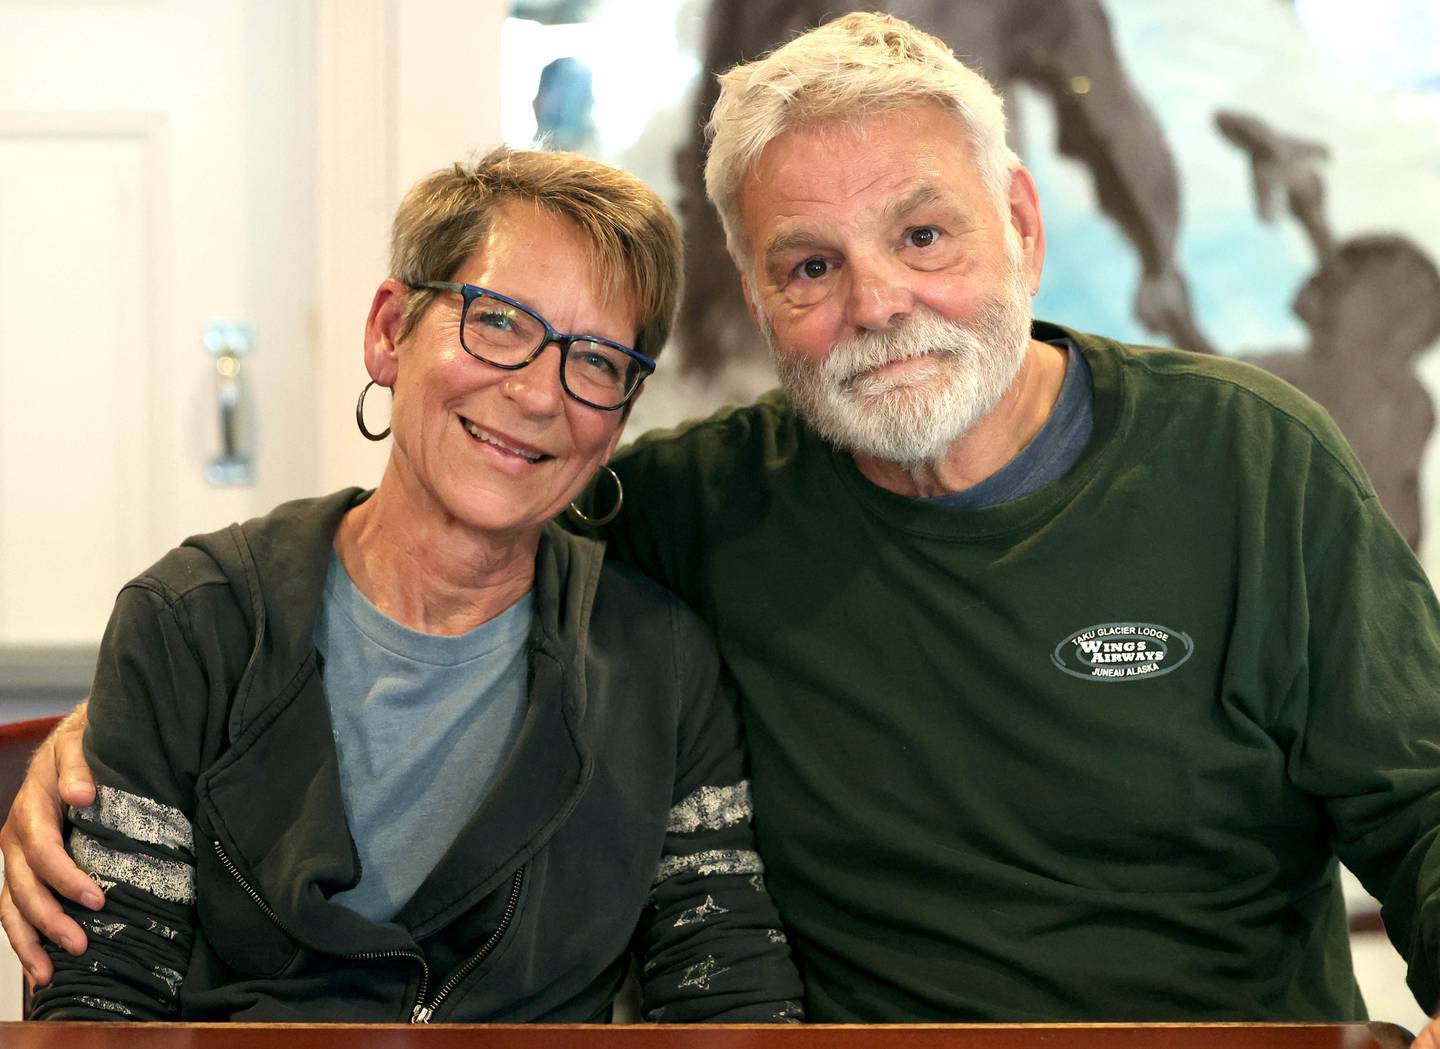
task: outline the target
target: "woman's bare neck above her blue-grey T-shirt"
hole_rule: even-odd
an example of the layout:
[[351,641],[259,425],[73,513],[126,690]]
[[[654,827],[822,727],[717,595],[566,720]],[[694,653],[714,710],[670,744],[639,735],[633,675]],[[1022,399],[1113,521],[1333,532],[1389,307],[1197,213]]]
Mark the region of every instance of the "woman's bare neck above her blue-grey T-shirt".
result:
[[458,635],[500,615],[534,582],[540,530],[480,533],[386,467],[380,487],[340,520],[336,553],[376,608],[410,630]]

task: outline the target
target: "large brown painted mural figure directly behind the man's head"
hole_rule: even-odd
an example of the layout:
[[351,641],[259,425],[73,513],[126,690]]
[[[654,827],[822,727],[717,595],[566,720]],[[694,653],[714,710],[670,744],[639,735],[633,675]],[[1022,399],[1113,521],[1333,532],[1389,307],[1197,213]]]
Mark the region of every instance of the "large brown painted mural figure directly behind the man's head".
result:
[[[1096,196],[1140,256],[1136,317],[1175,346],[1210,350],[1191,314],[1175,262],[1179,187],[1169,147],[1149,107],[1120,66],[1099,0],[891,0],[886,10],[946,40],[1001,86],[1024,81],[1056,107],[1060,151],[1094,176]],[[713,0],[706,27],[706,79],[694,134],[681,147],[680,210],[685,226],[685,298],[680,330],[685,366],[706,373],[762,356],[734,271],[721,265],[724,235],[700,182],[714,73],[759,58],[837,9],[821,0]]]

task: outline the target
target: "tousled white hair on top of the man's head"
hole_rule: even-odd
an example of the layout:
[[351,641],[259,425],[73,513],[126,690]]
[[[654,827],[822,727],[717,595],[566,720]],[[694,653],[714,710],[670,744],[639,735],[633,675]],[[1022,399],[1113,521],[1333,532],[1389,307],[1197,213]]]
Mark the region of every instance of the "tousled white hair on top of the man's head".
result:
[[854,12],[721,73],[706,124],[706,195],[720,212],[730,254],[746,258],[740,183],[770,141],[916,102],[945,107],[969,133],[981,180],[1004,212],[1020,166],[1005,143],[1005,104],[945,42],[909,22]]

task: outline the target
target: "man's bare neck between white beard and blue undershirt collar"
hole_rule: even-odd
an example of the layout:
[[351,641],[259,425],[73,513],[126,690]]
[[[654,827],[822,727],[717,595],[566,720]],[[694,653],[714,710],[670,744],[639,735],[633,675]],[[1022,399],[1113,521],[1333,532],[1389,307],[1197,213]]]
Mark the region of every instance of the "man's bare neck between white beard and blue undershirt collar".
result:
[[1030,340],[1025,359],[1005,395],[962,434],[945,455],[901,465],[852,452],[873,484],[900,496],[933,499],[972,488],[1009,463],[1045,425],[1066,378],[1066,350]]

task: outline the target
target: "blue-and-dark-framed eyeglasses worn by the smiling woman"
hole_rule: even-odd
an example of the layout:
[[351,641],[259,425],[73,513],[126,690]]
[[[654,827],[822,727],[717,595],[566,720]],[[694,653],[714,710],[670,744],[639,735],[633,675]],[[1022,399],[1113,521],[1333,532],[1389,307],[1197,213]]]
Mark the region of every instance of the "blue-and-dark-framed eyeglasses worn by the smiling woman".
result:
[[498,291],[454,281],[410,287],[461,294],[459,344],[475,360],[516,372],[550,343],[559,346],[560,386],[582,405],[605,412],[624,408],[655,370],[655,362],[639,350],[599,336],[562,334],[528,305]]

